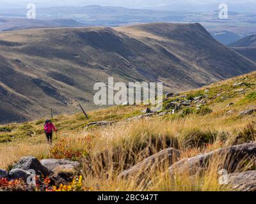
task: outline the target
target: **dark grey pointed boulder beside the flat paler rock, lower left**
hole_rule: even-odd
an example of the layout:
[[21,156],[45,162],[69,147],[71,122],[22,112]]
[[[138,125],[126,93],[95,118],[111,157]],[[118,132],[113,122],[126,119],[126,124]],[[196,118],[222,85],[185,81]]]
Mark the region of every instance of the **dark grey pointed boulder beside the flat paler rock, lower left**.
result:
[[45,168],[36,157],[22,157],[20,161],[14,164],[13,169],[22,169],[22,170],[35,170],[36,175],[43,175],[47,177],[51,172]]

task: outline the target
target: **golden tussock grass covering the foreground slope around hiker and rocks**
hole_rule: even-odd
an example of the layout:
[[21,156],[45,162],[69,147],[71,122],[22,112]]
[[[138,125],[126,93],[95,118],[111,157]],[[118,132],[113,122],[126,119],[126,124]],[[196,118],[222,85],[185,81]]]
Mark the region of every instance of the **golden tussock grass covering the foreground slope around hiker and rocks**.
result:
[[[246,84],[250,84],[244,85],[248,89],[246,93],[234,92],[233,84],[246,78]],[[228,191],[230,187],[218,182],[224,157],[213,158],[207,170],[193,176],[182,171],[171,177],[167,163],[152,166],[143,179],[140,173],[129,179],[118,175],[168,147],[179,149],[183,159],[221,147],[255,142],[255,114],[238,117],[239,112],[255,105],[255,78],[256,73],[252,73],[185,93],[187,98],[193,98],[209,89],[207,104],[199,110],[191,108],[182,117],[177,113],[127,120],[141,115],[141,110],[148,106],[105,108],[89,112],[89,120],[82,114],[60,115],[54,119],[59,132],[58,137],[54,135],[53,146],[46,143],[44,119],[0,126],[0,141],[3,141],[0,168],[8,168],[23,156],[67,158],[81,162],[83,168],[79,173],[84,177],[84,185],[92,186],[94,191]],[[214,98],[219,93],[225,97]],[[227,106],[231,102],[234,105]],[[226,114],[228,110],[235,111]],[[89,122],[102,120],[116,122],[111,126],[86,128]],[[28,132],[33,134],[29,136]]]

